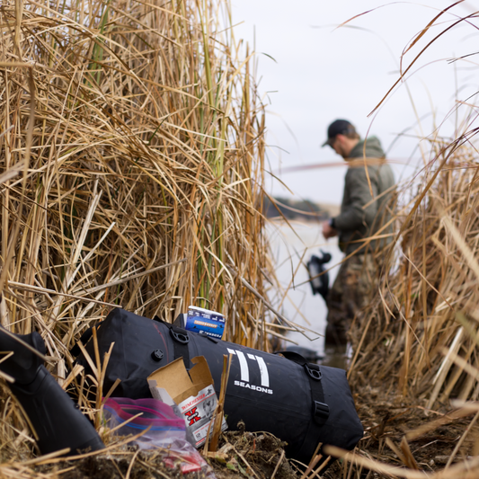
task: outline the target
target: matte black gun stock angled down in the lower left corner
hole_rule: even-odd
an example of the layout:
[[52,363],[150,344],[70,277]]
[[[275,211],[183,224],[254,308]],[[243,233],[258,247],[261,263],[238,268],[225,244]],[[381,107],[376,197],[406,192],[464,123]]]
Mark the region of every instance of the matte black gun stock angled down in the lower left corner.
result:
[[[15,334],[31,347],[45,353],[39,333]],[[0,351],[13,355],[0,363],[0,370],[13,377],[7,383],[22,404],[42,454],[70,448],[69,454],[104,448],[93,424],[58,385],[43,366],[43,361],[22,342],[18,342],[0,326]]]

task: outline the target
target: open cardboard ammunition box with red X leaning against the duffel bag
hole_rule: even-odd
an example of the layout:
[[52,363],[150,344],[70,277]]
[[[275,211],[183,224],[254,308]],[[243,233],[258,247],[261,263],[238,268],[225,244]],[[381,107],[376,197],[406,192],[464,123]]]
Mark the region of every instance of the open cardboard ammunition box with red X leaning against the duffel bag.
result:
[[[177,404],[191,430],[197,448],[205,442],[209,423],[217,407],[213,378],[204,356],[191,359],[194,366],[190,374],[184,367],[182,358],[176,359],[164,368],[156,369],[148,377],[151,395],[166,404]],[[225,418],[221,430],[226,430]],[[211,424],[210,433],[213,431]]]

